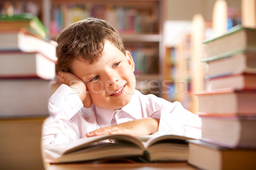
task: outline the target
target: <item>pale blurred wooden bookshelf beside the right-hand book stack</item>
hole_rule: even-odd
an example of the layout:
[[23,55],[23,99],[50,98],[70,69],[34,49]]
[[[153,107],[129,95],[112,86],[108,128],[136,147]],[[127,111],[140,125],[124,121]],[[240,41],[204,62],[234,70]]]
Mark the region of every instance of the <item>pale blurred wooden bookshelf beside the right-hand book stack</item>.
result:
[[184,108],[196,113],[198,111],[195,91],[204,90],[206,69],[201,59],[205,55],[204,19],[197,16],[188,31],[183,31],[178,41],[166,47],[165,79],[171,79],[172,93],[164,96],[170,102],[179,101]]

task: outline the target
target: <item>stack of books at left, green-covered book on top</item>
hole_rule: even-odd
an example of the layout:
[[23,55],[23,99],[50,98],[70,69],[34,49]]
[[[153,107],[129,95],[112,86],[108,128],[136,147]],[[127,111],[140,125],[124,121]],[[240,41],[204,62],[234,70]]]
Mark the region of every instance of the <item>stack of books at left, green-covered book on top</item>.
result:
[[44,169],[41,130],[55,79],[56,45],[32,14],[0,15],[0,164]]

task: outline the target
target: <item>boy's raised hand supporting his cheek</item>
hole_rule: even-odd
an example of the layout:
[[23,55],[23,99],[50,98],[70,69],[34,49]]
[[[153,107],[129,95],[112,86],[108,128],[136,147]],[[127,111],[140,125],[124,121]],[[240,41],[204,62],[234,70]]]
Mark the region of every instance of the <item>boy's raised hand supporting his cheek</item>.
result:
[[85,83],[76,75],[72,73],[67,73],[64,71],[58,72],[58,80],[65,85],[70,86],[72,90],[78,94],[79,98],[84,104],[85,108],[90,108],[92,104],[92,100],[90,98],[90,94],[86,89]]

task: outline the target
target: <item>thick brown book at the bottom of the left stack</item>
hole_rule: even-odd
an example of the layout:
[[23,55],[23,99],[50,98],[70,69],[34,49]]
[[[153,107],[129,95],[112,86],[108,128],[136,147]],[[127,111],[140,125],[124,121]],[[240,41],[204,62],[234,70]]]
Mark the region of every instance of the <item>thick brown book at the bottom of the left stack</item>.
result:
[[[13,105],[17,105],[17,103]],[[2,107],[1,105],[0,108]],[[26,110],[29,111],[29,108],[26,108]],[[47,112],[45,112],[45,115],[47,115]],[[41,150],[41,130],[46,118],[47,116],[22,118],[0,117],[1,169],[47,169]]]

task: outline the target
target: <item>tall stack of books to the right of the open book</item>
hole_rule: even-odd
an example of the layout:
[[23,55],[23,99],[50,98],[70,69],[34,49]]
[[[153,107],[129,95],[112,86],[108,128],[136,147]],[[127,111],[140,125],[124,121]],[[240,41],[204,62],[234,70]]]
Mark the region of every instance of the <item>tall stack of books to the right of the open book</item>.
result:
[[196,93],[202,136],[189,164],[206,170],[256,169],[256,28],[240,25],[207,40],[211,89]]

